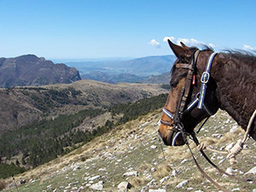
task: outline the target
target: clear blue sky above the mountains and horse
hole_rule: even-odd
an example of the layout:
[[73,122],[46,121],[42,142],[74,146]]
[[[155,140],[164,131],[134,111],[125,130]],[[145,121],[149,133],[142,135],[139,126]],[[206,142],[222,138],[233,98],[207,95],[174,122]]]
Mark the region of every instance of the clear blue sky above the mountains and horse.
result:
[[170,55],[174,43],[256,49],[256,1],[0,0],[0,57]]

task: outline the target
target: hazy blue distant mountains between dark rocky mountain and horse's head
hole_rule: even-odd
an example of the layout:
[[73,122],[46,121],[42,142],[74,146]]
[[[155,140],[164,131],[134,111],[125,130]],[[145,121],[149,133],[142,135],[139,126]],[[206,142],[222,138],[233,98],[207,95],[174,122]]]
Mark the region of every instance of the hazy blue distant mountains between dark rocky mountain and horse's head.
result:
[[[82,77],[85,79],[102,80],[109,82],[127,81],[131,82],[131,78],[122,78],[117,76],[134,75],[132,82],[146,79],[151,75],[160,75],[168,73],[171,70],[173,61],[176,60],[174,55],[148,56],[128,61],[84,61],[84,62],[67,62],[67,66],[76,67]],[[108,76],[108,77],[107,77]]]

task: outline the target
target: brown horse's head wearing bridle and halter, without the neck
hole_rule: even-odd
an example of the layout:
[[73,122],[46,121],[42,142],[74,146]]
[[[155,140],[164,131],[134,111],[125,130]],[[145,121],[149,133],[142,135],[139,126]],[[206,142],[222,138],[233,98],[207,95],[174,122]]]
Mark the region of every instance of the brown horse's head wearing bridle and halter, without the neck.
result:
[[[179,46],[170,40],[168,43],[177,60],[172,66],[171,90],[161,116],[159,133],[166,145],[180,146],[185,143],[184,135],[194,133],[202,119],[218,111],[218,90],[209,73],[205,73],[212,49],[190,48],[183,43]],[[212,60],[216,60],[214,56]],[[207,86],[204,92],[201,91],[202,84]]]

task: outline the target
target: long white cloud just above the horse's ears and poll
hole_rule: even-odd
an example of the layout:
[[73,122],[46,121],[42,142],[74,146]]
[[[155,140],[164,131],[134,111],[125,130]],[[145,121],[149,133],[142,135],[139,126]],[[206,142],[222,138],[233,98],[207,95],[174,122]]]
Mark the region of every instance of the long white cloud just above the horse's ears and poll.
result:
[[[167,39],[170,39],[172,42],[174,42],[176,40],[176,38],[174,37],[165,37],[163,39],[164,42],[167,42]],[[215,48],[216,45],[214,44],[206,44],[205,42],[203,41],[199,41],[195,38],[177,38],[176,40],[176,44],[179,44],[181,45],[180,43],[183,43],[183,44],[186,44],[187,46],[191,47],[191,46],[195,46],[195,47],[201,47],[202,45],[207,45],[207,46],[210,46],[212,48]]]

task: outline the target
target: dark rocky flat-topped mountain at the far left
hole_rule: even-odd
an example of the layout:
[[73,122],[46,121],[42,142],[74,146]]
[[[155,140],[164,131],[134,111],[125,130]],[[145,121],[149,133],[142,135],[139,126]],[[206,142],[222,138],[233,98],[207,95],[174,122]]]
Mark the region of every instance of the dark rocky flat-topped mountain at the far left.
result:
[[80,80],[79,72],[65,64],[54,64],[36,55],[0,58],[0,87],[70,84]]

